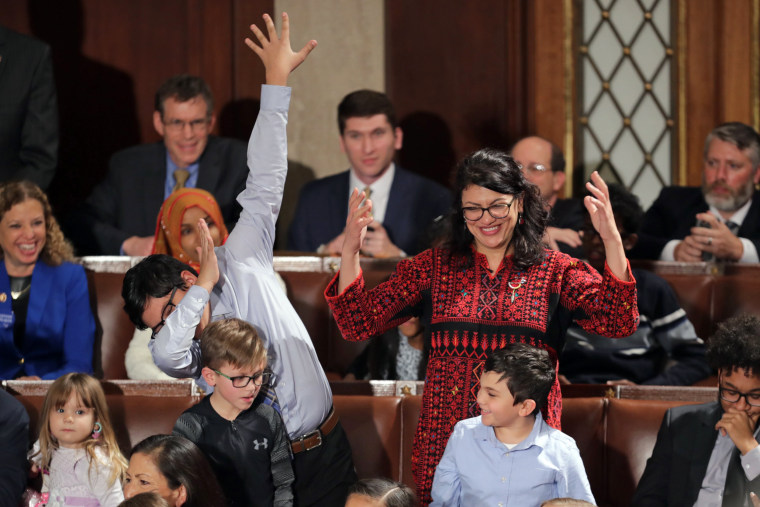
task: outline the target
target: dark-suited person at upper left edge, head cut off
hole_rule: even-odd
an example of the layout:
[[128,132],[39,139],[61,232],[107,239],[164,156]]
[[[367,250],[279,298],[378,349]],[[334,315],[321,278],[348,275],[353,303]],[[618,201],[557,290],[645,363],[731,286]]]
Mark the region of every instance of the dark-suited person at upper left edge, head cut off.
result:
[[47,189],[58,164],[58,101],[50,47],[0,26],[0,182]]

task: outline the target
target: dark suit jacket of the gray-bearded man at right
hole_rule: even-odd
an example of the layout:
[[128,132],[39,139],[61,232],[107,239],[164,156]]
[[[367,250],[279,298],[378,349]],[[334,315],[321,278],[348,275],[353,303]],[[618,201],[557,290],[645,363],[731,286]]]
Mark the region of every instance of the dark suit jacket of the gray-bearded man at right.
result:
[[[666,187],[644,215],[639,240],[631,250],[631,259],[659,259],[662,249],[672,239],[683,239],[697,225],[697,213],[710,207],[701,187]],[[760,253],[760,192],[752,196],[747,216],[738,236],[747,238]]]

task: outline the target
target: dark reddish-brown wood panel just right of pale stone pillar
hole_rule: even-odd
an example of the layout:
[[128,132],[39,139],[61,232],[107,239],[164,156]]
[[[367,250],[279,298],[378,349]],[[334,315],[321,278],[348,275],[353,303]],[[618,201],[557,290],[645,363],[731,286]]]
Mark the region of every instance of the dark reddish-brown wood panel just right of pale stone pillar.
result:
[[438,119],[452,139],[447,147],[415,144],[417,136],[407,135],[402,163],[410,151],[419,152],[414,160],[424,161],[445,150],[459,159],[486,146],[507,148],[525,131],[524,5],[517,0],[386,3],[387,91],[397,113],[400,118],[430,113],[428,125]]

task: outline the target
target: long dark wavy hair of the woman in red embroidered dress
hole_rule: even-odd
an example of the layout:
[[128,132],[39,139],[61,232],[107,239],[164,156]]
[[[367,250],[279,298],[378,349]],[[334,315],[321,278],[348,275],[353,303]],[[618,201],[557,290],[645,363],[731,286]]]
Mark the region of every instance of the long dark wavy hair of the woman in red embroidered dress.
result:
[[466,266],[472,265],[470,247],[475,238],[467,228],[462,213],[462,192],[470,185],[513,195],[522,201],[524,223],[515,225],[512,236],[515,265],[519,269],[528,269],[543,261],[542,238],[549,212],[544,206],[540,191],[525,179],[512,157],[490,148],[470,154],[457,166],[455,197],[450,216],[451,234],[445,245],[451,254],[464,258]]

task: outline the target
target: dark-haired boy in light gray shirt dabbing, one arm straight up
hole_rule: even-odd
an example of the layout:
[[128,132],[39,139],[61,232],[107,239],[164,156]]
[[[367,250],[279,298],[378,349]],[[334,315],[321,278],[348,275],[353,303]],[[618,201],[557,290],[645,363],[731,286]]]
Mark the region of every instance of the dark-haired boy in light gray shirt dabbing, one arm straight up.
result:
[[[201,346],[194,338],[209,322],[238,318],[256,329],[277,379],[265,394],[273,407],[279,407],[290,439],[295,504],[332,507],[345,503],[348,487],[357,479],[351,446],[333,409],[332,391],[311,338],[272,266],[275,223],[288,169],[287,78],[316,41],[294,52],[287,15],[282,16],[280,37],[268,15],[265,23],[268,40],[255,25],[251,29],[260,45],[246,39],[264,63],[266,84],[248,147],[250,175],[238,196],[243,207],[240,220],[227,242],[217,248],[206,223],[199,220],[199,272],[173,257],[151,255],[125,274],[122,296],[135,326],[155,333],[149,345],[153,359],[173,377],[202,374]],[[216,369],[230,378],[253,375]],[[222,375],[214,378],[233,382]]]

